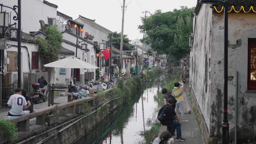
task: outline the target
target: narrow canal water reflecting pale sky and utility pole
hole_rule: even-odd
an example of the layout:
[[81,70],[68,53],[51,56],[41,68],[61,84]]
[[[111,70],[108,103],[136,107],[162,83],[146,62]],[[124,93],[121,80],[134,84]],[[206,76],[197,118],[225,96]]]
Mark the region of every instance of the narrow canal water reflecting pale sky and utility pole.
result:
[[167,77],[161,75],[148,83],[147,88],[134,96],[129,104],[118,108],[75,144],[145,144],[143,134],[157,120],[156,115],[161,107],[158,104],[158,91],[166,82]]

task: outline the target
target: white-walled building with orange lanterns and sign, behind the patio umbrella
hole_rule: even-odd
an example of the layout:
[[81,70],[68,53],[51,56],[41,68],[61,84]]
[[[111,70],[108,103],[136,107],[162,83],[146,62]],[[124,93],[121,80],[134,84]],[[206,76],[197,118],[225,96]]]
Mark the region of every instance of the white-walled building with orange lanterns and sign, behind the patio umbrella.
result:
[[[64,13],[57,12],[56,24],[58,30],[62,31],[64,42],[62,43],[63,48],[73,51],[76,55],[76,43],[81,42],[77,48],[77,57],[87,63],[96,65],[96,52],[97,44],[94,44],[91,40],[82,38],[83,24],[73,20],[72,17],[65,15]],[[82,42],[83,41],[83,42]],[[87,49],[88,51],[86,51]],[[71,56],[71,55],[63,55]],[[95,70],[76,69],[76,82],[85,82],[85,72],[93,72],[93,80],[95,80]],[[56,83],[69,84],[70,78],[73,78],[73,72],[70,69],[58,68],[55,73]],[[90,79],[91,80],[91,79]],[[73,81],[73,80],[71,80]]]

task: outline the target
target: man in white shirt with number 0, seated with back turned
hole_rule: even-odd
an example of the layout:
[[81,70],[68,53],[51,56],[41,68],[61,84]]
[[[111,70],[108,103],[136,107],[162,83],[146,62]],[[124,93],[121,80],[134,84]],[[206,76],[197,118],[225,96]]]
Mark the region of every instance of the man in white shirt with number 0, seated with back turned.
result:
[[7,105],[11,107],[8,117],[18,117],[22,115],[23,108],[27,108],[27,100],[21,95],[21,89],[15,89],[15,94],[11,95]]

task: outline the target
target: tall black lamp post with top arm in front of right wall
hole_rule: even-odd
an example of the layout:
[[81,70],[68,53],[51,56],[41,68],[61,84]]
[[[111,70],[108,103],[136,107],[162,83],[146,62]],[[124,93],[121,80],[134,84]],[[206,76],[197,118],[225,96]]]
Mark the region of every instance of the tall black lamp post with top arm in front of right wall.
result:
[[201,3],[223,4],[224,6],[224,111],[222,124],[222,143],[229,144],[229,119],[228,119],[228,0],[200,0]]

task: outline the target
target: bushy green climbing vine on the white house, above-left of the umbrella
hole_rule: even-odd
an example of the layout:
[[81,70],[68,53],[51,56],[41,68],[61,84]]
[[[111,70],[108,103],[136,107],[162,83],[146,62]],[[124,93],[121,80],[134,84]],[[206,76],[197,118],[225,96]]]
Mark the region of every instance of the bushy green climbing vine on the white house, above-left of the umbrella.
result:
[[45,33],[46,39],[38,38],[37,40],[39,56],[43,64],[58,60],[63,41],[62,34],[56,27],[46,27]]

